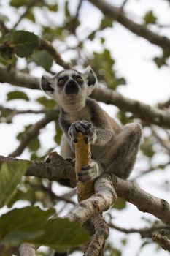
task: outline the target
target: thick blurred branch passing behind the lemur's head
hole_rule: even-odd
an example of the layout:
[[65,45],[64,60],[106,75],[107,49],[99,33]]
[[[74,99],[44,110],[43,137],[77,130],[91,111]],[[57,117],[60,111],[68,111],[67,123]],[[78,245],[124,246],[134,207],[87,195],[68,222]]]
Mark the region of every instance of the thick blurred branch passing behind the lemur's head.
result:
[[[0,64],[0,82],[11,83],[15,86],[30,89],[40,89],[38,78],[34,78],[16,69],[8,69],[2,64]],[[95,89],[92,97],[106,104],[116,105],[120,110],[129,111],[148,124],[157,124],[160,127],[170,129],[170,115],[166,110],[152,108],[150,105],[123,97],[117,91],[112,91],[101,86]]]

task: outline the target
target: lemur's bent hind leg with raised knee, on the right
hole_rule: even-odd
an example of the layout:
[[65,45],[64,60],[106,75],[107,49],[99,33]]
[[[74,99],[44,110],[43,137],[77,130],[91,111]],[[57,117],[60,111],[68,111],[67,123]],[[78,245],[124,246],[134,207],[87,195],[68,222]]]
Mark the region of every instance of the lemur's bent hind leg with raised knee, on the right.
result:
[[114,173],[120,178],[128,178],[134,167],[136,154],[142,135],[142,127],[138,123],[125,125],[122,132],[114,139],[101,159],[104,173]]

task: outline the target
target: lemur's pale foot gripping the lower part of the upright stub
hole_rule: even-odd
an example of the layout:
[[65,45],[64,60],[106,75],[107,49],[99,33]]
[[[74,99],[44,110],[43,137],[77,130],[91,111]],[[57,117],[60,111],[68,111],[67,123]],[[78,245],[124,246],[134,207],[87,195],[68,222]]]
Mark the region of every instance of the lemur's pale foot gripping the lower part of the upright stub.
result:
[[78,173],[78,179],[82,182],[94,181],[98,176],[100,176],[100,171],[96,162],[83,166]]

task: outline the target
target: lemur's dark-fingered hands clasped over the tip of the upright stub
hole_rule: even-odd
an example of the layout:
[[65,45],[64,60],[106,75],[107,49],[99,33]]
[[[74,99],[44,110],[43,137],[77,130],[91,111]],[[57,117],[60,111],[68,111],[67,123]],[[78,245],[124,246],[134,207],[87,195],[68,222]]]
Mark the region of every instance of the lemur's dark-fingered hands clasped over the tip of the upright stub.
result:
[[96,127],[93,124],[85,120],[75,121],[71,127],[69,127],[69,136],[72,142],[77,142],[77,133],[82,132],[85,135],[86,143],[94,143],[96,140]]

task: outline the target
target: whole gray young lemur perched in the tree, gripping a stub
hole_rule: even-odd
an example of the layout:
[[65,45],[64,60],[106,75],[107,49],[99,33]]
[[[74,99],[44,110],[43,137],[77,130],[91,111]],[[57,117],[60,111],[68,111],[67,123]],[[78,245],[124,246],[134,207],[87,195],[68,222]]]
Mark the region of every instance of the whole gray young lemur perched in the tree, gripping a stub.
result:
[[[96,75],[90,67],[83,73],[65,70],[53,78],[42,77],[42,90],[61,107],[61,156],[74,159],[74,141],[80,131],[92,144],[92,162],[82,167],[80,181],[95,180],[105,172],[128,178],[139,150],[142,127],[137,123],[120,127],[95,100],[90,99],[88,96],[96,82]],[[67,180],[61,180],[61,183],[71,187],[76,185]]]

